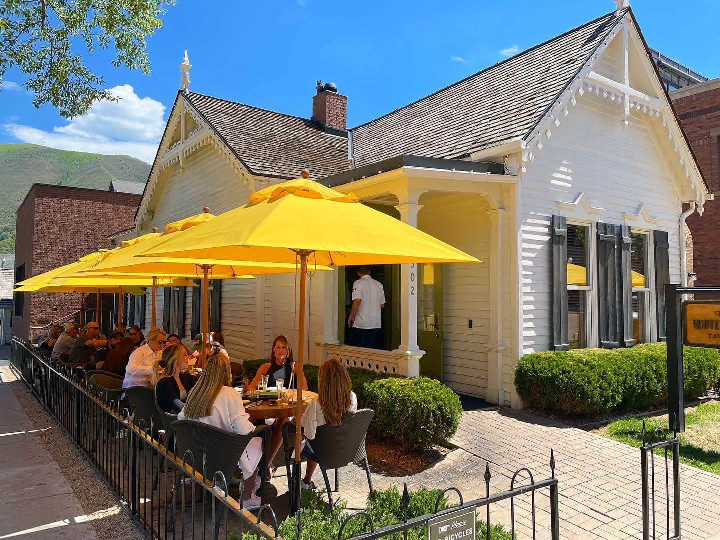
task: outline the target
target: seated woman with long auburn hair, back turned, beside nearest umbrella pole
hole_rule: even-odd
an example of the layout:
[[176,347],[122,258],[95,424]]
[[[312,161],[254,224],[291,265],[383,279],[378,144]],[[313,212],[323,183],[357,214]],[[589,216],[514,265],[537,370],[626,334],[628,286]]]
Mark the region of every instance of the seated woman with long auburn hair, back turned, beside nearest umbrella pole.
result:
[[[318,370],[318,397],[307,405],[302,413],[302,428],[305,438],[312,441],[320,426],[338,427],[343,424],[343,415],[355,413],[358,410],[358,398],[353,392],[353,383],[348,370],[338,359],[328,360]],[[308,443],[310,446],[310,443]],[[312,454],[312,446],[310,446]],[[302,479],[302,489],[312,486],[312,474],[318,464],[312,459],[307,461],[305,478]]]

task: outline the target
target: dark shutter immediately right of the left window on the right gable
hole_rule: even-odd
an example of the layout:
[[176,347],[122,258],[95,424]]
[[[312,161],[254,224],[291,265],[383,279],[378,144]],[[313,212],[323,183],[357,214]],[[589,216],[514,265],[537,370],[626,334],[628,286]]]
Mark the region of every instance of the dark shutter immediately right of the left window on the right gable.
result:
[[600,347],[620,346],[615,225],[598,223],[598,330]]

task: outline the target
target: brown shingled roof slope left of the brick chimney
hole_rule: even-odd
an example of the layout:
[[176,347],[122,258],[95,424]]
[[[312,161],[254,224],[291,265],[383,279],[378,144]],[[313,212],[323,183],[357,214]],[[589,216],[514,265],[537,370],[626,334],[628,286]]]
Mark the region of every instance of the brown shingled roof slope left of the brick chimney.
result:
[[293,179],[303,168],[313,178],[347,171],[347,138],[316,122],[194,92],[182,92],[235,156],[258,176]]

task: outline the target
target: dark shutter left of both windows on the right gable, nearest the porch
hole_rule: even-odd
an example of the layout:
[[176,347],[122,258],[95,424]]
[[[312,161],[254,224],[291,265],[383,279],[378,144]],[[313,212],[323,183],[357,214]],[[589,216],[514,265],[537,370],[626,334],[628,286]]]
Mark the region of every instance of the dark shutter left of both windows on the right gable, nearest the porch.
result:
[[552,341],[555,351],[570,349],[567,330],[567,217],[552,217]]

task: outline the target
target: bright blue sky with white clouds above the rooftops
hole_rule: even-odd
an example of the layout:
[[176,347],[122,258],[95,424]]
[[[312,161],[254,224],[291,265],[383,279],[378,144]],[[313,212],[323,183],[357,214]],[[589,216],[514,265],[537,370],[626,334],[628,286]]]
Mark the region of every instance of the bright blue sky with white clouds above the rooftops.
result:
[[[720,2],[632,0],[651,47],[710,78],[720,76]],[[315,81],[348,96],[350,127],[615,9],[611,0],[325,1],[179,0],[150,38],[153,74],[89,65],[122,102],[68,122],[32,107],[17,71],[0,91],[0,142],[129,153],[150,161],[179,87],[184,50],[192,91],[310,117]]]

